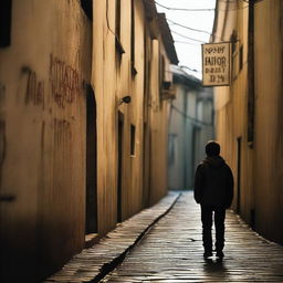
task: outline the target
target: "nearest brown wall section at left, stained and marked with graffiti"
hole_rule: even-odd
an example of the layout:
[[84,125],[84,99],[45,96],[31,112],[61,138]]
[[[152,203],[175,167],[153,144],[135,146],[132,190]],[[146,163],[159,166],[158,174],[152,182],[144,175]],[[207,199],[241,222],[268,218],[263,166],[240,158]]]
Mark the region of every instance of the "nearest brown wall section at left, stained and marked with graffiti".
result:
[[18,275],[34,273],[34,262],[49,272],[84,243],[90,31],[77,0],[13,1],[0,50],[0,188],[15,198],[0,205],[1,251],[13,274],[17,263]]

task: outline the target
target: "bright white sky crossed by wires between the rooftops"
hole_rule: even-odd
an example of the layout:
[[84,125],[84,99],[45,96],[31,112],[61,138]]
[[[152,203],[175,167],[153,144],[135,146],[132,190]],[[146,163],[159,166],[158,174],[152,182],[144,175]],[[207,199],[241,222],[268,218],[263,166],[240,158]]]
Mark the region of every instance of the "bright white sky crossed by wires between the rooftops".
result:
[[[159,4],[167,8],[211,10],[178,11],[168,10]],[[213,9],[216,8],[216,0],[156,0],[156,7],[158,12],[166,13],[166,18],[175,41],[179,65],[186,66],[186,72],[201,80],[201,44],[208,43],[210,39],[209,34],[213,28]],[[182,28],[176,23],[187,28]],[[193,31],[188,28],[205,32]],[[191,70],[196,70],[197,72]]]

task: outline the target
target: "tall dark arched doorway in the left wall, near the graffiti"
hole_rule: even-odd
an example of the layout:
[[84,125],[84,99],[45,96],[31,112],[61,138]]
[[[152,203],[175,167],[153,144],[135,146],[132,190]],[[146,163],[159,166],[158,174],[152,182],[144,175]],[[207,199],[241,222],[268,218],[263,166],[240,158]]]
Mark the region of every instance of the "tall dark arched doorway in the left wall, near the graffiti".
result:
[[97,132],[96,102],[92,86],[86,91],[86,219],[85,234],[97,233]]

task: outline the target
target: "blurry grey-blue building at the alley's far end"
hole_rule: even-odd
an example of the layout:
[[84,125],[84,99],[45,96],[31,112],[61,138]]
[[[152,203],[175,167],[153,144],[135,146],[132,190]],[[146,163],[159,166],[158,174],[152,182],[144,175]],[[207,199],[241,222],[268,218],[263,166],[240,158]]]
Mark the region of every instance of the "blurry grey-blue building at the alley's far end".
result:
[[176,98],[169,113],[168,187],[192,189],[205,145],[214,136],[213,92],[182,69],[171,65]]

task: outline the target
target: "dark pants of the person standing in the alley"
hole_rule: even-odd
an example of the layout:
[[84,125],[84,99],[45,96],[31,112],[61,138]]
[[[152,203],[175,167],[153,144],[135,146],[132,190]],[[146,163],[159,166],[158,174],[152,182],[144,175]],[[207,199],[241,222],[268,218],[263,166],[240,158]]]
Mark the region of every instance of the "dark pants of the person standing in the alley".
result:
[[222,251],[224,248],[224,220],[226,208],[217,206],[201,205],[202,241],[205,251],[212,251],[212,214],[214,212],[216,227],[216,250]]

